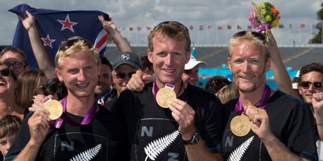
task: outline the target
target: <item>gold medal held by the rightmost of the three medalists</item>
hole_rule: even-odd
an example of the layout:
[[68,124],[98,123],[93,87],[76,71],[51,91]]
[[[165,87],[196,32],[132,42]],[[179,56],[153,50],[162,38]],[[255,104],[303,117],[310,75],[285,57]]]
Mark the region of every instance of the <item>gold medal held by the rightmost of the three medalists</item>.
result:
[[244,137],[251,130],[250,120],[243,113],[241,116],[235,116],[231,120],[230,129],[238,137]]

